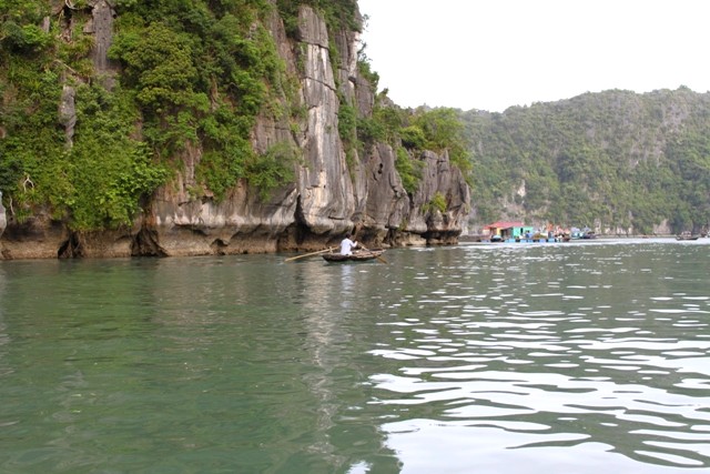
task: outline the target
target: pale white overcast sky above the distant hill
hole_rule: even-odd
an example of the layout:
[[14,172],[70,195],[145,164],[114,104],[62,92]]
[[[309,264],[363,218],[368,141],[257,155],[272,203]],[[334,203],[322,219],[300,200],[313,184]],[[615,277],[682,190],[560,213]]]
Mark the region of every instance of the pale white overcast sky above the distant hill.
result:
[[503,112],[623,89],[710,90],[708,0],[357,0],[378,90]]

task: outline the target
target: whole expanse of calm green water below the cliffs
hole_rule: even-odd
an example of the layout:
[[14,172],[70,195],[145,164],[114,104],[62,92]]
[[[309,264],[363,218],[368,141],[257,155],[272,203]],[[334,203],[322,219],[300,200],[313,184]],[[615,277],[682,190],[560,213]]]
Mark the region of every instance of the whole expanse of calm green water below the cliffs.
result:
[[710,239],[285,256],[0,262],[0,472],[710,472]]

